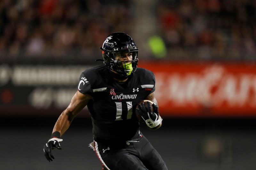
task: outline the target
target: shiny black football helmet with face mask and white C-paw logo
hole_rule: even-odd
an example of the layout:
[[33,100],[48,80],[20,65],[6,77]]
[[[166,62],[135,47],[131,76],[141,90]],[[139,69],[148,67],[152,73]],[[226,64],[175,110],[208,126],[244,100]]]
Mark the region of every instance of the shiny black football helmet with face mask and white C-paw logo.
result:
[[[100,49],[102,50],[103,63],[105,66],[108,69],[116,71],[119,75],[127,76],[137,69],[138,48],[136,47],[135,42],[132,40],[132,37],[126,33],[116,32],[108,35]],[[115,54],[121,52],[132,52],[132,60],[117,61]],[[132,71],[127,69],[125,66],[120,67],[123,64],[128,65],[128,63],[132,64]]]

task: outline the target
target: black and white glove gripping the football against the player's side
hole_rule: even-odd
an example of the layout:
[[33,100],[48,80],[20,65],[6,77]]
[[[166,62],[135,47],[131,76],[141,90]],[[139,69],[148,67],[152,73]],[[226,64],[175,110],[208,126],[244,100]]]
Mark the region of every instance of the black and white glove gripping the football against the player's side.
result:
[[158,106],[153,103],[152,104],[153,111],[151,110],[150,102],[146,101],[146,105],[144,102],[139,104],[138,108],[136,108],[136,114],[140,115],[140,117],[145,121],[146,125],[149,128],[155,128],[158,126],[163,119],[159,119],[159,111]]

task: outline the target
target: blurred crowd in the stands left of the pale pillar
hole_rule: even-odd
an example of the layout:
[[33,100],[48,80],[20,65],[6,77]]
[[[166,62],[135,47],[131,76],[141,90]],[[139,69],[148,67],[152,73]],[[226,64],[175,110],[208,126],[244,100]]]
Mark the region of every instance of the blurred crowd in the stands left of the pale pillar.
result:
[[118,0],[1,0],[0,56],[89,58],[130,15]]

